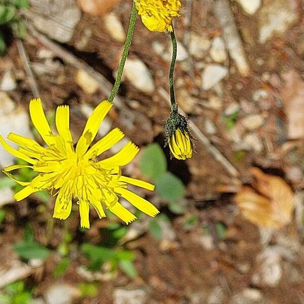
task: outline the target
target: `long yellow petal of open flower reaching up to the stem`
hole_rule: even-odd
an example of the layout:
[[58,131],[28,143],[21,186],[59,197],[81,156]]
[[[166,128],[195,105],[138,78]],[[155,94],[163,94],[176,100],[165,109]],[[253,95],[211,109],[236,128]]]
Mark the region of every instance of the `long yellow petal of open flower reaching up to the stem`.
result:
[[112,105],[113,104],[111,102],[104,100],[93,110],[76,146],[76,153],[79,157],[86,153],[89,145],[92,143],[99,130],[101,122],[107,115]]

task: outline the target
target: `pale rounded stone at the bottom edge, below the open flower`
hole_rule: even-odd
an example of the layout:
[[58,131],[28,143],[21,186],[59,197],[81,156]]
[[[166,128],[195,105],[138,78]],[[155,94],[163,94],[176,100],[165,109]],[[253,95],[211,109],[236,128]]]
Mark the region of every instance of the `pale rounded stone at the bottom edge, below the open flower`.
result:
[[56,283],[47,290],[45,300],[47,304],[72,304],[79,296],[79,289],[65,283]]

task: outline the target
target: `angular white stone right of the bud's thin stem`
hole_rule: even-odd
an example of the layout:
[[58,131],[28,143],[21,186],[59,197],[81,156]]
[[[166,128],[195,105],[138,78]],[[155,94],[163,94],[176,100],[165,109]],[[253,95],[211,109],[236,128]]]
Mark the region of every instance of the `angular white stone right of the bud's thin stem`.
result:
[[228,73],[225,66],[219,64],[208,64],[202,73],[202,84],[204,90],[211,89],[219,83]]

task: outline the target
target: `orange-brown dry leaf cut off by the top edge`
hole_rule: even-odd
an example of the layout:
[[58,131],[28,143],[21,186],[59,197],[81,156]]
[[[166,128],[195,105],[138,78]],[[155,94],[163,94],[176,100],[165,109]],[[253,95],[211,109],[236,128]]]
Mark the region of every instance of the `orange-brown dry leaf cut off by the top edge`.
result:
[[122,0],[78,0],[81,9],[93,16],[102,16],[118,5]]

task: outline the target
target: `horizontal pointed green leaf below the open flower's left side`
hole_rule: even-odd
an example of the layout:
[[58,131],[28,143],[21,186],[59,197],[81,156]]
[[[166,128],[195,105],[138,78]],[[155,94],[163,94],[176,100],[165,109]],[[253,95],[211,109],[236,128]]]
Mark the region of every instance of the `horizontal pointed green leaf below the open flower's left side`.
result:
[[50,250],[48,248],[38,243],[20,242],[14,244],[13,248],[19,256],[24,259],[36,258],[45,260],[50,254]]

